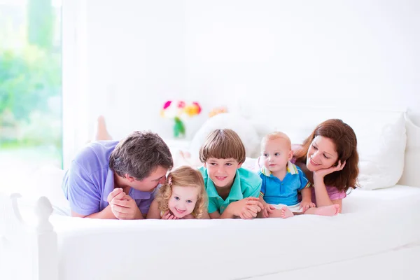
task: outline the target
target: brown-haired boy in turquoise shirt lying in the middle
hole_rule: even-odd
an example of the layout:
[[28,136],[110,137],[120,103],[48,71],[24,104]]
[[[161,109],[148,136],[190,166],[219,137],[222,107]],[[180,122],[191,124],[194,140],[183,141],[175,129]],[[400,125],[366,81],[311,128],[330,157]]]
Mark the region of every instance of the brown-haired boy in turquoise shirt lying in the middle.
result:
[[245,147],[239,135],[233,130],[214,130],[200,148],[200,160],[210,218],[255,218],[262,209],[258,200],[261,179],[241,168]]

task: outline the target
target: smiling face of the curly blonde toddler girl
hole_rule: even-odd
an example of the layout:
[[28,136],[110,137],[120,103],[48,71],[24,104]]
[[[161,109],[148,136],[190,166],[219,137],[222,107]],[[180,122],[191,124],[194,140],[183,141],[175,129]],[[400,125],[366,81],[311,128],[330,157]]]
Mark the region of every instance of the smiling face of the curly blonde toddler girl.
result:
[[169,210],[176,218],[183,218],[193,213],[198,200],[196,187],[172,186],[172,195],[169,197]]

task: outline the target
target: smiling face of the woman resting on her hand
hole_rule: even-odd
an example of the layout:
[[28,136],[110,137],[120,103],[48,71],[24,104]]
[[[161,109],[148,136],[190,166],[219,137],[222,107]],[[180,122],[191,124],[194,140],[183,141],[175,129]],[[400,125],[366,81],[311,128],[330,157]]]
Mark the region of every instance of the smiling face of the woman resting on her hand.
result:
[[307,153],[307,168],[310,172],[330,168],[337,160],[335,144],[330,138],[317,136],[312,140]]

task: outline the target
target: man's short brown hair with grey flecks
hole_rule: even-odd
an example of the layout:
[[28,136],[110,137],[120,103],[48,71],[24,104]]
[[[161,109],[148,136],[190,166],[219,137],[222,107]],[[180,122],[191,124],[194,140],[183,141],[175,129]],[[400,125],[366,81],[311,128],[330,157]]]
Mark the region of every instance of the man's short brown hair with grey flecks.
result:
[[158,167],[172,169],[174,161],[167,144],[150,131],[132,132],[111,153],[109,168],[119,176],[125,174],[142,180]]

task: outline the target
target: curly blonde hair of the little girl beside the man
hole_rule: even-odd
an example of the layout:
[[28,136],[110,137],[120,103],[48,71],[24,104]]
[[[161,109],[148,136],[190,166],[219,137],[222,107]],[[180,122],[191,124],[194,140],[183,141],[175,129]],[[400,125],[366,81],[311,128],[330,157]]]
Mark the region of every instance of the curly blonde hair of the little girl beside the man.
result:
[[204,180],[200,171],[193,167],[181,166],[169,172],[167,181],[160,187],[159,193],[155,198],[158,201],[158,209],[162,212],[169,210],[168,202],[172,195],[172,186],[199,188],[193,215],[195,218],[202,218],[204,212],[207,211],[207,192],[204,188]]

